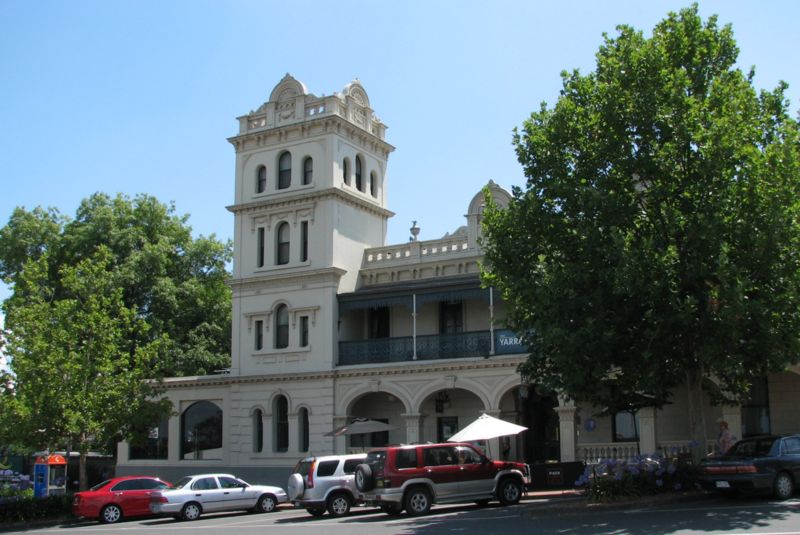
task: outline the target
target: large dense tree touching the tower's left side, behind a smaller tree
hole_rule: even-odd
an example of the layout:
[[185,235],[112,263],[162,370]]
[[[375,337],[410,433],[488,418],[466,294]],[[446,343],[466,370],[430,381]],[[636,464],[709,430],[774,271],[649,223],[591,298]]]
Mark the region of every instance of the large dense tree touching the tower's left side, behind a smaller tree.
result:
[[140,342],[167,335],[155,371],[204,375],[228,367],[230,244],[213,235],[193,239],[187,220],[147,195],[131,200],[97,193],[81,203],[74,219],[52,208],[17,208],[0,229],[0,278],[13,290],[6,313],[27,306],[27,290],[19,284],[27,262],[47,259],[41,284],[58,299],[64,294],[60,267],[77,266],[103,246],[125,305],[149,326],[139,333],[145,337]]

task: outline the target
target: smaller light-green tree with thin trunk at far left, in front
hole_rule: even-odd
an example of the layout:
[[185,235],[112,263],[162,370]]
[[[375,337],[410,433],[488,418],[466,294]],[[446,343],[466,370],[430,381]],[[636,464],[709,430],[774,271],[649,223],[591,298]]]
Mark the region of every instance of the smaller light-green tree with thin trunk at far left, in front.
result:
[[160,383],[148,380],[167,339],[147,336],[147,323],[125,306],[105,246],[59,270],[59,295],[51,265],[45,252],[25,262],[16,279],[15,292],[27,303],[6,316],[11,374],[0,387],[0,429],[11,443],[77,450],[85,489],[91,449],[141,433],[169,413]]

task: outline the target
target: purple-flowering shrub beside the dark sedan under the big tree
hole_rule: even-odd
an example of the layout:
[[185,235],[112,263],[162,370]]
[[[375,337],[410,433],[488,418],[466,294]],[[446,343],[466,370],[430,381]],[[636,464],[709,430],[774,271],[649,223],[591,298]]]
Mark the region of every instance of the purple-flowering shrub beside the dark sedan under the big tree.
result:
[[575,486],[585,488],[591,501],[608,502],[628,496],[691,490],[696,488],[695,475],[696,468],[691,462],[659,453],[587,464]]

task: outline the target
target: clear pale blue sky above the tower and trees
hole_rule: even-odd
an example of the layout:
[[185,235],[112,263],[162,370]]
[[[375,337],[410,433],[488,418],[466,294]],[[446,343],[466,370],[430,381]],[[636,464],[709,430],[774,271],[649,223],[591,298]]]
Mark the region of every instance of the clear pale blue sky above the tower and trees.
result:
[[[363,84],[396,147],[387,243],[465,223],[563,70],[594,68],[604,32],[649,35],[667,0],[0,0],[0,226],[17,206],[74,216],[94,192],[153,195],[195,235],[233,235],[236,117],[286,74],[315,95]],[[800,109],[800,2],[702,1],[730,23],[757,88]],[[9,289],[0,285],[0,300]],[[1,318],[0,318],[1,321]]]

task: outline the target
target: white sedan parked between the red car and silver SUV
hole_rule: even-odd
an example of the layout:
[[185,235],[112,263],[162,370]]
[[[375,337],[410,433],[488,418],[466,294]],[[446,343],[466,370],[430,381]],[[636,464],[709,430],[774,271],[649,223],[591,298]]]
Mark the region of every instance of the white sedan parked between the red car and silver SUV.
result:
[[220,511],[270,513],[288,500],[280,487],[251,485],[230,474],[198,474],[153,494],[150,510],[180,520],[197,520],[203,513]]

